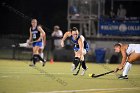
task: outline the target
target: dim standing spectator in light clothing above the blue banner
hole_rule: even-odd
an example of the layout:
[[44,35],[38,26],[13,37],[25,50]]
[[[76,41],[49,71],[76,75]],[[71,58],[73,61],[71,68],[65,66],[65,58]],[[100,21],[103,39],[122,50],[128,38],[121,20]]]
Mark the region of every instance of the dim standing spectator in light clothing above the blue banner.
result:
[[117,16],[119,19],[125,19],[126,18],[126,9],[123,7],[123,5],[120,4],[118,11],[117,11]]

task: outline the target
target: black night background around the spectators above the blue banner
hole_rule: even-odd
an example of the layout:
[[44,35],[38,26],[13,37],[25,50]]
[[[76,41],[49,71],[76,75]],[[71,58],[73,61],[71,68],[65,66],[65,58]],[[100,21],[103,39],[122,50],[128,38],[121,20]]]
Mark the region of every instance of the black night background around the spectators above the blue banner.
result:
[[[123,7],[126,9],[127,17],[140,17],[140,0],[114,0],[114,12],[117,14],[117,9],[119,5],[122,4]],[[105,14],[109,15],[111,10],[111,0],[106,0],[105,3]]]

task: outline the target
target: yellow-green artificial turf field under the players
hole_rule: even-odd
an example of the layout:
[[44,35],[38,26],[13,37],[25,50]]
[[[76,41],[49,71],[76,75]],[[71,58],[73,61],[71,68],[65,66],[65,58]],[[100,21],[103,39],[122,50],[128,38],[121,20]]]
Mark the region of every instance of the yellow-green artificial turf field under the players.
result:
[[0,93],[140,93],[140,65],[133,65],[128,80],[119,80],[121,74],[111,73],[99,78],[88,74],[101,74],[117,64],[87,63],[84,76],[71,72],[70,62],[50,62],[42,67],[30,61],[0,60]]

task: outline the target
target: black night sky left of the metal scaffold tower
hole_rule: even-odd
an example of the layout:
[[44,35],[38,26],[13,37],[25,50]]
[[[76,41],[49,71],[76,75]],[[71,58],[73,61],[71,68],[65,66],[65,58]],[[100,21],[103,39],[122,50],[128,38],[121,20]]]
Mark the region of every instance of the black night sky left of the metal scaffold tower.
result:
[[67,30],[67,0],[3,0],[0,3],[1,35],[29,33],[30,20],[19,12],[37,18],[45,32],[52,31],[54,25]]

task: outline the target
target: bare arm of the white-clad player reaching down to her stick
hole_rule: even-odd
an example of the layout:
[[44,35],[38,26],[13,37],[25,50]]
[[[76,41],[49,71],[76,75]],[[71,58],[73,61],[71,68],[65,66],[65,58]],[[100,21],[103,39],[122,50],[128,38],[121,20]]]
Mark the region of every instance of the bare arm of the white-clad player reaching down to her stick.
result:
[[122,54],[122,60],[121,60],[121,64],[119,65],[119,69],[123,69],[125,63],[126,63],[126,59],[127,59],[127,55],[126,55],[126,49],[125,47],[121,48],[121,54]]

